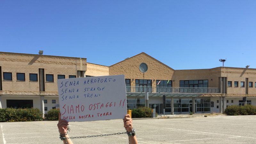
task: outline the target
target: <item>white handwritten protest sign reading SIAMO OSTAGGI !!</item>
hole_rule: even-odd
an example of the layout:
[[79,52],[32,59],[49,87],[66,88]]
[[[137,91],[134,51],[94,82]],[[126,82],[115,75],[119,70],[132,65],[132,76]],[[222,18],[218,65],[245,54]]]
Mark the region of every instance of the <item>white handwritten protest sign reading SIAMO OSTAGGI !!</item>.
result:
[[122,119],[127,114],[124,75],[58,79],[61,119]]

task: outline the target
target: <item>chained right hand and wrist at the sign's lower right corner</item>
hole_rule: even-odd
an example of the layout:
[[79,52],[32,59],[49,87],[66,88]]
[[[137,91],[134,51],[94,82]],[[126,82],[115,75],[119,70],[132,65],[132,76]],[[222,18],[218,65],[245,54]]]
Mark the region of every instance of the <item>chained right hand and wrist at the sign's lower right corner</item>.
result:
[[[129,114],[124,116],[124,128],[127,132],[132,132],[132,118]],[[129,138],[129,144],[138,144],[138,141],[136,139],[136,136],[128,136]]]

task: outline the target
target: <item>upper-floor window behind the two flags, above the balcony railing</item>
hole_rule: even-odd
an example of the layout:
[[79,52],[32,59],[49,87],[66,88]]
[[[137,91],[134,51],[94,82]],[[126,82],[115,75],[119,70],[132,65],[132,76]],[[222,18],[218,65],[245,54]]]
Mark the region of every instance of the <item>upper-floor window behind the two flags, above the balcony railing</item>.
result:
[[156,80],[156,92],[172,92],[172,81]]

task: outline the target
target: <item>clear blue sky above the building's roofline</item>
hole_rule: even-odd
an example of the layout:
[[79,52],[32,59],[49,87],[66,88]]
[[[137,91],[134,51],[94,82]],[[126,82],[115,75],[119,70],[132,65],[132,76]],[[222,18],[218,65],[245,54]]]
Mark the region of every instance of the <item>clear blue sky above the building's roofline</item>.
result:
[[0,1],[0,51],[110,66],[140,52],[173,69],[256,68],[255,0]]

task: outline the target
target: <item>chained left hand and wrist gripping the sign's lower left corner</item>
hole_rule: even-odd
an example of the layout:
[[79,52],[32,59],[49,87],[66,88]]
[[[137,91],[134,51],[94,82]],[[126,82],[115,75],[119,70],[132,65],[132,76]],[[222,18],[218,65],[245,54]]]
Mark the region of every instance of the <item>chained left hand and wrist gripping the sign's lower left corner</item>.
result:
[[[68,138],[68,121],[65,121],[63,119],[60,118],[60,113],[59,113],[59,123],[57,124],[59,132],[61,137],[66,137]],[[67,140],[67,141],[66,141]],[[71,141],[71,139],[66,139],[63,140],[64,144],[73,144],[73,142]]]

